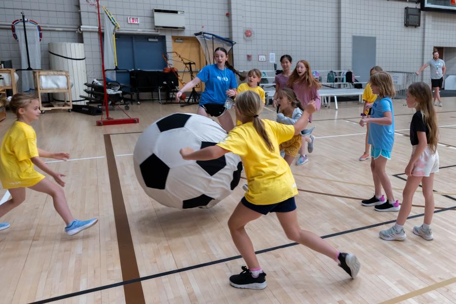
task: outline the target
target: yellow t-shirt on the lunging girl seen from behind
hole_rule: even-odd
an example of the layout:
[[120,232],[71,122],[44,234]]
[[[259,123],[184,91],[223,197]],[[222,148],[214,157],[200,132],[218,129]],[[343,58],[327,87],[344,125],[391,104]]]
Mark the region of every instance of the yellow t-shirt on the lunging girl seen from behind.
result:
[[279,153],[279,143],[293,137],[294,127],[266,119],[262,122],[274,151],[268,149],[253,123],[236,126],[217,145],[241,157],[249,186],[246,200],[255,205],[271,205],[298,194],[290,166]]

